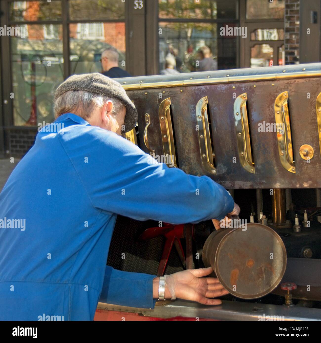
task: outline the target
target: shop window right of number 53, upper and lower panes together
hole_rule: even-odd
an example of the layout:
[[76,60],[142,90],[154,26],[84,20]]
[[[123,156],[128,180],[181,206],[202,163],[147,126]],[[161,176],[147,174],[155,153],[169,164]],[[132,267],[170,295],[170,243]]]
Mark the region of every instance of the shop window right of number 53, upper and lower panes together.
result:
[[237,0],[159,0],[160,73],[236,68],[238,37],[221,28],[237,26],[237,7]]

